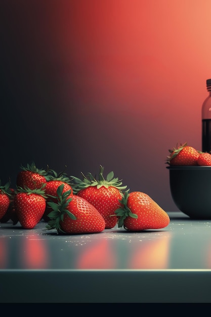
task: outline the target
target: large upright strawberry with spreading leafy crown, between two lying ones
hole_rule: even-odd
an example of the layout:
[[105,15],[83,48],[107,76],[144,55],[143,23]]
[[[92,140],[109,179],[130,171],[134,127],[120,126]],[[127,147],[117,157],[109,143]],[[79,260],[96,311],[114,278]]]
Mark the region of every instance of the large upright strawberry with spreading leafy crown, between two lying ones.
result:
[[104,168],[100,165],[99,179],[95,179],[91,173],[80,180],[72,176],[75,184],[72,185],[73,191],[80,197],[86,199],[101,213],[105,219],[106,229],[113,228],[117,224],[117,217],[110,217],[119,207],[122,189],[121,180],[113,178],[114,173],[110,172],[106,179],[103,177]]

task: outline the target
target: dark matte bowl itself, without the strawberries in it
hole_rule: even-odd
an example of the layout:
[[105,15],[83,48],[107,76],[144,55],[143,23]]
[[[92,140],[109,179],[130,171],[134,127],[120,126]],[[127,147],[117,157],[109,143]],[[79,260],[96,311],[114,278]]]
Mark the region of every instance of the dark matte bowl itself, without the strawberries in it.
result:
[[192,219],[211,219],[211,166],[168,166],[172,199]]

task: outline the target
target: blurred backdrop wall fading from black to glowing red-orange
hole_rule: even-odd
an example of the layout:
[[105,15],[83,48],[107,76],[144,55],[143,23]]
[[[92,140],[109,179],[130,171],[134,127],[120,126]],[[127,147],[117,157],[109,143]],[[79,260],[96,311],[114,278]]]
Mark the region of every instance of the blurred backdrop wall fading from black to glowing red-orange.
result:
[[210,0],[0,1],[2,183],[105,174],[177,211],[165,159],[201,149]]

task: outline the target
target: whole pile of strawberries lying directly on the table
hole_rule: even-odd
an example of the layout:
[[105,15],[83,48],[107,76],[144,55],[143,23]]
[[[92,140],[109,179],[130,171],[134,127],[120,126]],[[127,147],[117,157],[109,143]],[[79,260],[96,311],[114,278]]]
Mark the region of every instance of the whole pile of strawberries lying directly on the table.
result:
[[20,222],[32,229],[40,221],[58,233],[98,233],[118,224],[131,231],[158,229],[170,223],[167,213],[150,196],[131,192],[110,172],[98,178],[91,173],[82,178],[57,174],[34,163],[21,166],[16,188],[0,183],[0,221]]

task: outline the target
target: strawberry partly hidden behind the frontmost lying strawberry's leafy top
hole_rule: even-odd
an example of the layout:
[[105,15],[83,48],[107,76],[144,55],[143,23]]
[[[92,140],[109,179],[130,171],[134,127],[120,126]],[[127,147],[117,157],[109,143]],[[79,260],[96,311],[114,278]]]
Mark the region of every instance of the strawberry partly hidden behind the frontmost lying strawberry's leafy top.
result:
[[63,192],[67,190],[71,190],[71,194],[73,194],[72,187],[70,186],[70,179],[67,177],[67,174],[61,172],[57,174],[55,171],[51,170],[53,175],[47,176],[47,183],[45,186],[45,193],[47,195],[47,205],[46,210],[43,215],[44,221],[49,221],[48,214],[52,211],[51,207],[48,205],[48,202],[53,201],[57,203],[57,189],[60,185],[64,184]]

